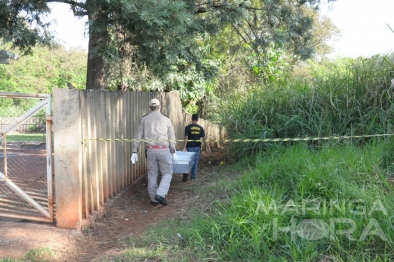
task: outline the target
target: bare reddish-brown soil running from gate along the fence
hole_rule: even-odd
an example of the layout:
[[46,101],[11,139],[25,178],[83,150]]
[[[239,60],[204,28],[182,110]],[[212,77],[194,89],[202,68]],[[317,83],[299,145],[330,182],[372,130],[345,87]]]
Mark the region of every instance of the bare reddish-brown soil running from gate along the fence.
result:
[[50,248],[55,257],[51,261],[106,261],[120,255],[126,248],[120,241],[138,237],[147,226],[163,220],[181,217],[192,206],[198,206],[199,196],[195,188],[215,179],[213,174],[220,168],[222,149],[202,154],[198,178],[182,182],[182,174],[174,174],[168,206],[154,208],[145,184],[127,197],[120,196],[109,212],[96,220],[92,227],[82,230],[66,230],[54,225],[0,218],[0,259],[23,259],[31,249]]

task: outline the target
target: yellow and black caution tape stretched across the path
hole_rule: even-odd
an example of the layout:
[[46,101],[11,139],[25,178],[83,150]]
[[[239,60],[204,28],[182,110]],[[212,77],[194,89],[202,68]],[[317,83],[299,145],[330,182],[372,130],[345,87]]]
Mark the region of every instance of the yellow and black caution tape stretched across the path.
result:
[[[297,137],[297,138],[263,138],[263,139],[207,139],[206,142],[222,142],[222,143],[257,143],[257,142],[292,142],[292,141],[317,141],[317,140],[339,140],[339,139],[351,139],[351,138],[367,138],[367,137],[383,137],[392,136],[394,134],[375,134],[375,135],[355,135],[355,136],[327,136],[327,137]],[[121,138],[87,138],[82,141],[86,143],[87,141],[113,141],[113,142],[184,142],[185,140],[146,140],[146,139],[121,139]],[[188,142],[200,142],[202,140],[187,140]]]

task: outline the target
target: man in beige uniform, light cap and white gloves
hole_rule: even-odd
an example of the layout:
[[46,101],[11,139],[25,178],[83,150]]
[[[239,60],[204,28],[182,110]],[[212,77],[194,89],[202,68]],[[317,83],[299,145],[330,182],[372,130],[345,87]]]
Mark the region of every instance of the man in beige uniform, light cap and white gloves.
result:
[[[148,192],[151,203],[167,205],[166,195],[172,180],[172,161],[177,161],[175,153],[175,133],[171,120],[160,113],[161,105],[156,98],[149,102],[150,114],[142,117],[133,145],[131,162],[138,160],[138,148],[141,139],[147,149]],[[147,142],[150,141],[150,142]],[[157,184],[159,169],[162,175],[160,185]]]

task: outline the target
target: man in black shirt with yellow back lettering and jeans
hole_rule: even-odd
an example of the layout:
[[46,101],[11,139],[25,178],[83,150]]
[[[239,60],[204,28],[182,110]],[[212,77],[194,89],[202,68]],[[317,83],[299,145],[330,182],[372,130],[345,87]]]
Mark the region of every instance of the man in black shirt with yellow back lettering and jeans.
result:
[[[191,169],[191,179],[196,179],[197,176],[197,166],[198,160],[200,159],[201,152],[201,138],[204,140],[204,143],[207,148],[208,154],[211,153],[211,147],[209,143],[207,143],[205,138],[204,128],[197,124],[198,114],[192,115],[192,123],[185,127],[185,142],[183,145],[184,152],[195,152],[194,155],[194,164]],[[191,140],[191,141],[188,141]],[[198,140],[198,141],[196,141]],[[189,174],[183,174],[183,182],[187,181],[187,177]]]

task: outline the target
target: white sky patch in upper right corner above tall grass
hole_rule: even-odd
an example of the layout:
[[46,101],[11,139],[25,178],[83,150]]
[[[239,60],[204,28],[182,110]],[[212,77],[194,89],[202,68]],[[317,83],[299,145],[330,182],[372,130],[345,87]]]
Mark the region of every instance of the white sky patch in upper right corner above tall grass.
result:
[[337,0],[322,6],[341,30],[331,56],[368,57],[394,50],[394,0]]

